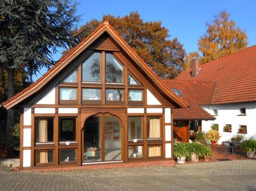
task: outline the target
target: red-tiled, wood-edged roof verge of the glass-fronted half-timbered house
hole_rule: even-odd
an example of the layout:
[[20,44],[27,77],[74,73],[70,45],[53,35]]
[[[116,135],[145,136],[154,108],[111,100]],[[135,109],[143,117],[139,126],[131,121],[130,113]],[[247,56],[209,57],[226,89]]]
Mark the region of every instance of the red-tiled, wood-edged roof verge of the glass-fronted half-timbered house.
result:
[[[51,76],[56,75],[56,70],[60,68],[66,61],[72,60],[74,54],[76,51],[79,51],[83,45],[90,43],[93,41],[93,38],[98,35],[101,31],[103,30],[108,30],[110,33],[113,33],[113,35],[117,36],[118,41],[120,44],[124,44],[124,48],[131,53],[132,56],[134,56],[135,60],[138,61],[142,68],[144,70],[149,71],[149,74],[151,77],[155,80],[156,84],[159,86],[159,88],[166,93],[166,95],[173,100],[173,102],[178,106],[178,107],[187,107],[187,103],[181,99],[179,96],[175,95],[172,91],[168,91],[168,88],[163,84],[160,80],[160,78],[153,72],[153,70],[147,65],[146,62],[144,62],[140,56],[133,50],[131,46],[128,45],[128,43],[124,40],[124,38],[114,29],[113,26],[111,26],[107,21],[104,23],[101,23],[99,27],[93,31],[88,37],[84,38],[77,46],[72,48],[64,57],[61,58],[58,63],[56,63],[50,70],[48,70],[43,76],[41,76],[35,83],[31,84],[27,88],[25,88],[23,91],[18,92],[16,95],[13,97],[9,98],[7,101],[3,102],[1,105],[3,105],[6,108],[11,108],[14,105],[17,105],[21,100],[23,100],[23,96],[26,93],[34,93],[38,91],[38,89],[42,88],[41,84],[46,80],[46,78],[50,78]],[[12,104],[12,106],[10,106]]]

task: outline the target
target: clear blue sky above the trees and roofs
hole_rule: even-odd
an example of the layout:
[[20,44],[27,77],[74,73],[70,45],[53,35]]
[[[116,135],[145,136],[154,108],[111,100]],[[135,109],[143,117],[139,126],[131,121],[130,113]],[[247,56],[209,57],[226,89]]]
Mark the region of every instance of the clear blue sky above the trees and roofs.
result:
[[[255,0],[76,0],[77,14],[82,15],[78,26],[92,18],[101,20],[102,15],[123,16],[138,11],[144,21],[162,21],[169,30],[170,38],[177,37],[187,53],[198,50],[198,39],[206,32],[206,22],[226,10],[242,30],[247,32],[249,46],[256,45]],[[58,60],[59,53],[54,55]],[[33,76],[35,81],[46,72]]]

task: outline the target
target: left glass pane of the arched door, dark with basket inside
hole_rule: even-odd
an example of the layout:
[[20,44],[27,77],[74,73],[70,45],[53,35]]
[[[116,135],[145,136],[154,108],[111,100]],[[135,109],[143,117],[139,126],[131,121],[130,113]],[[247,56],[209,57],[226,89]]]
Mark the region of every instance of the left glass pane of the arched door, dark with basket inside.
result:
[[101,117],[89,117],[84,126],[83,160],[101,161]]

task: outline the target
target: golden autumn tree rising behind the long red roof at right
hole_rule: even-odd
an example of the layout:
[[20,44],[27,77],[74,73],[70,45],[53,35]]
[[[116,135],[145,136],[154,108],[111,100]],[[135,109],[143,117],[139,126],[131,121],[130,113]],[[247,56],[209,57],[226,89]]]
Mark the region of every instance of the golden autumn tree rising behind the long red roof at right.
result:
[[247,47],[248,37],[245,31],[236,27],[226,11],[215,15],[213,23],[206,23],[207,31],[198,41],[198,49],[203,53],[202,62],[221,58]]

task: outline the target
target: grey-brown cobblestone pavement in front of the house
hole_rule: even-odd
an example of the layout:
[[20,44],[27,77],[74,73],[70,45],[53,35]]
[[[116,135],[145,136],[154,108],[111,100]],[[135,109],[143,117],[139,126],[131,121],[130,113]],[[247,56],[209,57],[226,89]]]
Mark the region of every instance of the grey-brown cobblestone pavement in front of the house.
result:
[[0,190],[256,191],[256,160],[28,173],[0,166]]

